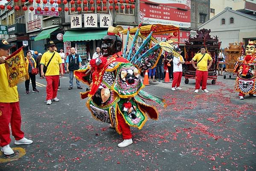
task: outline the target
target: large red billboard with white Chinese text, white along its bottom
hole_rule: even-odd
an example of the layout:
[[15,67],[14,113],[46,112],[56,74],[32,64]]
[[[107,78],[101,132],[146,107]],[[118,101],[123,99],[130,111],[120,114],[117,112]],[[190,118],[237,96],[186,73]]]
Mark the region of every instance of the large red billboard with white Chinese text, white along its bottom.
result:
[[140,0],[140,23],[190,27],[190,0]]

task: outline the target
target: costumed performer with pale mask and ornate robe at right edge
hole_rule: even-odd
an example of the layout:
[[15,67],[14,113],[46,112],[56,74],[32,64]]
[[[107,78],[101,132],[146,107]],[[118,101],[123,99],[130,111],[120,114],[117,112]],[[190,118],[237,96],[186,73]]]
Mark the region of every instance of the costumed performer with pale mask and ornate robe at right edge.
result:
[[256,41],[249,41],[245,46],[245,55],[237,59],[234,72],[237,72],[235,89],[239,92],[239,99],[246,94],[256,97]]

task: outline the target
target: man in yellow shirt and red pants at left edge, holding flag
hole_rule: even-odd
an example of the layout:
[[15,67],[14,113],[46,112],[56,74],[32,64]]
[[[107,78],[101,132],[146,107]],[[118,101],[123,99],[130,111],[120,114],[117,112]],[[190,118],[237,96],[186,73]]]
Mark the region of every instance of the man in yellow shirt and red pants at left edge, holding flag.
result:
[[9,87],[8,84],[4,63],[11,47],[7,41],[0,39],[0,146],[5,155],[14,154],[9,146],[11,142],[9,124],[11,124],[12,135],[15,137],[15,145],[33,143],[32,140],[26,139],[20,130],[21,116],[17,86]]

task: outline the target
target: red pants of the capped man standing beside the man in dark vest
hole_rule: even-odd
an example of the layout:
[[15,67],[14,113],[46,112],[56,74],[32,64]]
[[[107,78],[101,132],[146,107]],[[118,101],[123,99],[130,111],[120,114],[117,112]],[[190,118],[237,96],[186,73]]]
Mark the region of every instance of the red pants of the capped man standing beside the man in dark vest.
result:
[[46,100],[51,100],[57,97],[59,75],[46,76],[47,86],[46,86]]

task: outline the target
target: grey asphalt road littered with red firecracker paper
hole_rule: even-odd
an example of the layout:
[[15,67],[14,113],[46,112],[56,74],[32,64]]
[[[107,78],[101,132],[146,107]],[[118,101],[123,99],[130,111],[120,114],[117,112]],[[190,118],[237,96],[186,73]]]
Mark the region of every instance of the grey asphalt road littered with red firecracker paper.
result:
[[183,79],[177,91],[165,83],[146,86],[168,107],[149,102],[159,108],[159,120],[131,128],[134,143],[126,148],[117,147],[122,136],[93,119],[75,80],[73,90],[67,74],[60,80],[60,101],[52,105],[45,102],[45,79],[37,75],[40,93],[27,95],[19,84],[22,130],[34,143],[21,145],[26,155],[1,163],[0,171],[256,170],[256,98],[239,100],[235,78],[208,81],[209,93],[194,93],[195,80]]

